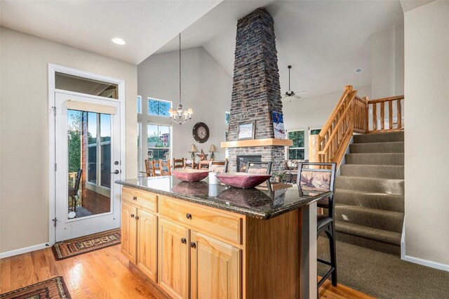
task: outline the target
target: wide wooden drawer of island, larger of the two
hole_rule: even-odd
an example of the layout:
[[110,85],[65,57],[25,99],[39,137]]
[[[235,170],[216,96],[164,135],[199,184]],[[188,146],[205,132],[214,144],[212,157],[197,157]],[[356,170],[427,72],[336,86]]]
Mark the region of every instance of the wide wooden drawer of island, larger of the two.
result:
[[159,196],[159,214],[241,244],[242,219],[186,201]]

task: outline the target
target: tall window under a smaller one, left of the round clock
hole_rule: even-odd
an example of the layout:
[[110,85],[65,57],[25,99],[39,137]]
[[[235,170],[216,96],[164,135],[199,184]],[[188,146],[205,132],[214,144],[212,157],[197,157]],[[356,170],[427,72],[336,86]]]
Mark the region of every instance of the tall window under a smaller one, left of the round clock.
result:
[[170,159],[171,126],[148,125],[148,159]]

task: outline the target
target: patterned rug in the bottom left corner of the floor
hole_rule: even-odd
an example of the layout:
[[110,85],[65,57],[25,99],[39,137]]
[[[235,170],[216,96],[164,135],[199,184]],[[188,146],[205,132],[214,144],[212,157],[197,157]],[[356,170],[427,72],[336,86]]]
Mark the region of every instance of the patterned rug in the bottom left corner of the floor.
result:
[[69,291],[62,276],[53,277],[46,281],[18,288],[15,291],[0,294],[2,299],[40,299],[40,298],[67,298],[71,299]]

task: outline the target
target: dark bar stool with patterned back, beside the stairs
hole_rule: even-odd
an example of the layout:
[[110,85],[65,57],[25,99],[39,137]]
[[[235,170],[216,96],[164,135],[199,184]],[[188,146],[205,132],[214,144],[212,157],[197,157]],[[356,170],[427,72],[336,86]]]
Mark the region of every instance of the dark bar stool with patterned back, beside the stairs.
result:
[[[309,163],[300,162],[297,171],[297,185],[300,196],[316,192],[334,192],[335,188],[335,163]],[[318,281],[318,288],[331,276],[333,286],[337,286],[337,253],[335,251],[335,202],[333,194],[317,202],[319,208],[324,208],[327,213],[319,213],[316,219],[316,237],[321,232],[329,239],[330,261],[318,259],[318,263],[330,266],[330,269]]]

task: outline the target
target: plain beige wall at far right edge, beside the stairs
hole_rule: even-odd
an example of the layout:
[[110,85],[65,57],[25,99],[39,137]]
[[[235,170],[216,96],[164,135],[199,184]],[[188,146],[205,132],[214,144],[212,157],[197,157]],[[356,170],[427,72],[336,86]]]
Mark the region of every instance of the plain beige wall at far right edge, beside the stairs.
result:
[[448,1],[405,13],[405,49],[406,255],[449,270]]

